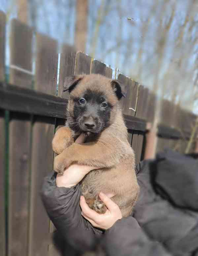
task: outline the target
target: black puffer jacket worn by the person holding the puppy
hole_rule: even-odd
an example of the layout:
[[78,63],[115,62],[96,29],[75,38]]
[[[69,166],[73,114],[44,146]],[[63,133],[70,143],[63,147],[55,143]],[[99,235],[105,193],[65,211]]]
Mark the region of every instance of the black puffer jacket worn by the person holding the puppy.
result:
[[195,158],[168,150],[158,154],[155,160],[141,162],[136,170],[140,196],[133,217],[118,220],[106,232],[93,228],[81,216],[78,185],[71,189],[57,188],[55,174],[47,177],[42,199],[57,231],[73,251],[67,251],[67,255],[97,248],[104,255],[112,256],[198,255],[198,160]]

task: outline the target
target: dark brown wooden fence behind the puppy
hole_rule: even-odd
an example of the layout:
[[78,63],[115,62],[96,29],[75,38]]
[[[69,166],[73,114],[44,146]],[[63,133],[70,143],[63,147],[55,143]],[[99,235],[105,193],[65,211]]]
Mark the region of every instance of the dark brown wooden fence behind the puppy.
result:
[[[43,178],[53,169],[54,131],[64,122],[68,96],[63,93],[64,78],[90,72],[112,78],[112,69],[63,46],[57,90],[57,42],[35,34],[33,75],[33,31],[13,20],[9,77],[5,78],[5,24],[5,14],[0,12],[0,252],[2,256],[57,256],[51,239],[54,227],[39,191]],[[118,80],[125,85],[126,98],[121,104],[129,142],[139,162],[144,156],[148,122],[154,118],[155,95],[122,74]],[[176,117],[170,119],[172,109],[170,102],[163,102],[158,149],[178,142],[184,148],[189,139],[195,116],[178,108]]]

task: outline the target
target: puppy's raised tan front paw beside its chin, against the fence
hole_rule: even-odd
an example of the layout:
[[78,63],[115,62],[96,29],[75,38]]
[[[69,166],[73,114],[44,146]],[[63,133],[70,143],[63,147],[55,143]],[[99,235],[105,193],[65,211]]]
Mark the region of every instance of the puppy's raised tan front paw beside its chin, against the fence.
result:
[[61,127],[55,133],[52,140],[52,150],[56,154],[62,153],[62,151],[68,148],[74,143],[74,138],[72,136],[72,131],[69,127]]

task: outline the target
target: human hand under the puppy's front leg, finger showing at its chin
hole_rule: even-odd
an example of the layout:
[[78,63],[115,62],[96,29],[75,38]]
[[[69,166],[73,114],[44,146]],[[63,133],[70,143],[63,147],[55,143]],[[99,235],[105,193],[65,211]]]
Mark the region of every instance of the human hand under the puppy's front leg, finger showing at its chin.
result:
[[[81,134],[75,141],[75,143],[83,143],[85,141],[85,137]],[[69,166],[63,174],[57,174],[56,176],[56,186],[57,187],[65,187],[71,188],[72,186],[77,185],[84,176],[90,172],[91,170],[97,169],[93,166],[87,165],[79,165],[79,164],[72,164]]]

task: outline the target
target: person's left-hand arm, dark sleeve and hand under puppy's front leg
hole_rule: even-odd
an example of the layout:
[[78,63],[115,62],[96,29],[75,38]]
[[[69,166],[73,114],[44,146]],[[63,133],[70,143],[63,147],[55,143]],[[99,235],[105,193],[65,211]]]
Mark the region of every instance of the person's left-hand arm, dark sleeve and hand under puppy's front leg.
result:
[[72,165],[63,175],[50,174],[45,178],[41,197],[57,231],[80,251],[94,246],[95,237],[102,231],[92,227],[81,215],[79,182],[94,167]]

